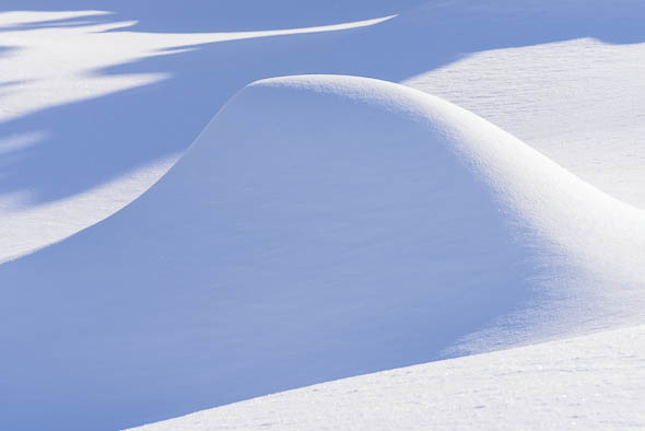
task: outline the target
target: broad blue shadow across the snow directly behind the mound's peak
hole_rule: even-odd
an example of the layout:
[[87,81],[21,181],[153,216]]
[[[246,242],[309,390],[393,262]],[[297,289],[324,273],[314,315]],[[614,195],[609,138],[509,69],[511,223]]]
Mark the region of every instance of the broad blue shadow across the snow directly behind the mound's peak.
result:
[[[22,1],[10,1],[3,8],[10,9],[12,4],[17,8],[19,3]],[[102,15],[99,20],[129,19],[137,13],[140,14],[137,18],[145,16],[134,27],[112,32],[231,31],[320,25],[331,19],[351,21],[373,18],[377,12],[392,12],[386,2],[378,1],[367,8],[371,15],[360,16],[363,3],[354,2],[328,7],[319,16],[316,12],[320,7],[312,7],[301,18],[286,13],[289,8],[298,11],[304,8],[295,0],[281,1],[273,9],[268,2],[260,3],[263,5],[251,8],[248,2],[234,7],[226,2],[196,2],[195,9],[178,11],[176,2],[162,2],[159,8],[155,2],[157,9],[154,9],[151,2],[117,1],[109,4],[116,14]],[[418,1],[404,4],[414,3]],[[31,190],[33,203],[62,199],[155,159],[180,153],[228,97],[258,79],[338,73],[397,82],[482,50],[580,37],[614,44],[645,39],[642,25],[645,5],[637,1],[612,4],[568,1],[556,7],[514,3],[482,1],[472,5],[460,0],[427,4],[371,27],[208,43],[177,54],[96,70],[96,75],[162,72],[171,79],[47,108],[3,124],[0,139],[34,129],[43,131],[46,138],[37,145],[11,154],[11,161],[2,161],[0,194]],[[49,2],[30,4],[54,10]],[[81,4],[105,5],[101,1],[89,4],[70,1],[66,2],[66,9]],[[245,14],[247,10],[253,12]],[[174,20],[175,13],[184,18]],[[211,14],[215,18],[209,21]],[[261,21],[262,16],[266,21]],[[195,27],[191,27],[192,19],[197,20]],[[75,25],[74,22],[57,25]]]

